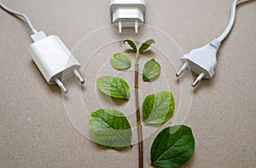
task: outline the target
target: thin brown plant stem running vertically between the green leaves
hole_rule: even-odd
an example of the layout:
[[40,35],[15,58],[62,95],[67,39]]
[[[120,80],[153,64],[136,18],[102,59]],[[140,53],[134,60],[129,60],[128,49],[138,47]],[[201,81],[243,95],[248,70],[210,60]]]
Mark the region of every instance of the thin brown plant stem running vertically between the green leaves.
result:
[[139,168],[143,168],[143,129],[140,115],[140,107],[139,107],[139,97],[138,97],[138,57],[139,54],[136,54],[136,62],[135,62],[135,79],[134,79],[134,87],[135,87],[135,98],[136,98],[136,114],[137,114],[137,135],[138,135],[138,153],[139,153]]

